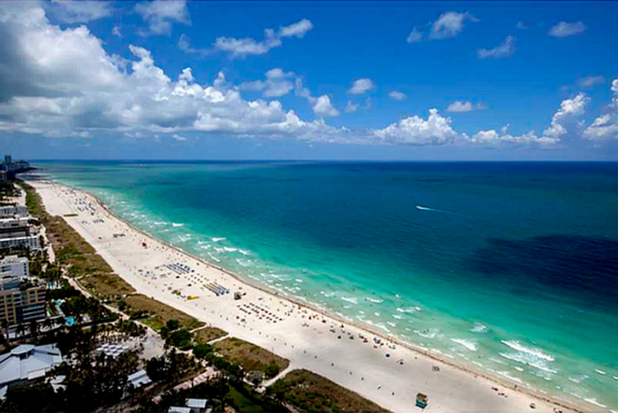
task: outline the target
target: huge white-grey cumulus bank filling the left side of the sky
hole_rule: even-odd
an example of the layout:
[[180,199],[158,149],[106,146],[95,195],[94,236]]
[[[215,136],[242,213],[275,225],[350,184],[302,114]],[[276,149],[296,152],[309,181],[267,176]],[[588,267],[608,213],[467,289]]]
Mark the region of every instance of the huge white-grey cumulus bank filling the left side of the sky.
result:
[[[345,129],[306,122],[276,100],[246,100],[218,73],[199,84],[191,68],[176,80],[146,48],[131,45],[125,70],[89,30],[62,29],[37,3],[0,8],[0,130],[87,137],[101,131],[183,131],[305,140],[345,139]],[[270,77],[282,73],[273,71]],[[324,104],[320,109],[325,107]]]

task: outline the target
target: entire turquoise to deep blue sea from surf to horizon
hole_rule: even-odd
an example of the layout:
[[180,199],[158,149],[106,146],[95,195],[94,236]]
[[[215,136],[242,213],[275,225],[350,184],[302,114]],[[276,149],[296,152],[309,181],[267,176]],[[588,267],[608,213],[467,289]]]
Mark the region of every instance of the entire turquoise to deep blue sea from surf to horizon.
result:
[[281,293],[618,408],[616,163],[37,166]]

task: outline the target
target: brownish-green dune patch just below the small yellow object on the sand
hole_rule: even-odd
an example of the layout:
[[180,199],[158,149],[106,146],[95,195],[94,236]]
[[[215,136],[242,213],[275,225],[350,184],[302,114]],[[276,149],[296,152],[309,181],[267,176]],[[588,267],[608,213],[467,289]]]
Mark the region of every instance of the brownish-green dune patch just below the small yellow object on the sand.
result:
[[178,320],[181,327],[188,330],[197,329],[204,325],[203,322],[190,315],[142,294],[127,295],[124,302],[129,315],[135,311],[147,313],[149,317],[141,321],[155,331],[161,331],[161,328],[165,327],[165,323],[170,320]]

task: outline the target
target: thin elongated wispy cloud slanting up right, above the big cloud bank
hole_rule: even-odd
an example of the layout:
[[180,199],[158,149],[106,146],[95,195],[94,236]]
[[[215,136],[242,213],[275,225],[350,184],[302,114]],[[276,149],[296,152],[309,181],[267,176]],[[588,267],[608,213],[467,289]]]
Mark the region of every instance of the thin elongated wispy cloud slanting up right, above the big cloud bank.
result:
[[235,37],[217,37],[214,48],[218,51],[230,53],[233,58],[242,58],[248,55],[263,55],[272,48],[282,45],[285,37],[305,37],[313,28],[311,21],[302,19],[289,26],[281,27],[277,32],[271,28],[264,30],[264,39],[258,42],[251,37],[237,39]]

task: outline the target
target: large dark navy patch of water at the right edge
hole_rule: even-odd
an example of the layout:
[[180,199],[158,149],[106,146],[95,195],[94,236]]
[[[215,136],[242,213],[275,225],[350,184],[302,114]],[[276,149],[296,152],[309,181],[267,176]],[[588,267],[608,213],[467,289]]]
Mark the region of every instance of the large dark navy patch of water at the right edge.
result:
[[469,261],[487,282],[525,295],[568,295],[618,306],[618,241],[581,235],[489,239]]

